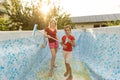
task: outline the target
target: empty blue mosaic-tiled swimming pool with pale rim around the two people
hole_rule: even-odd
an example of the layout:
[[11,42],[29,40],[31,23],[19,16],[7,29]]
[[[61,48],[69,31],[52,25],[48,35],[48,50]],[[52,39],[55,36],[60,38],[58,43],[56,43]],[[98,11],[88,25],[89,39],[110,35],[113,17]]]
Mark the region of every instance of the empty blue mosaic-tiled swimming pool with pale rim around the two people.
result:
[[[64,34],[58,31],[59,39]],[[120,27],[72,30],[76,46],[71,65],[73,80],[120,79]],[[47,77],[50,49],[43,48],[43,35],[0,32],[0,80],[65,80],[62,47],[59,46],[52,78]]]

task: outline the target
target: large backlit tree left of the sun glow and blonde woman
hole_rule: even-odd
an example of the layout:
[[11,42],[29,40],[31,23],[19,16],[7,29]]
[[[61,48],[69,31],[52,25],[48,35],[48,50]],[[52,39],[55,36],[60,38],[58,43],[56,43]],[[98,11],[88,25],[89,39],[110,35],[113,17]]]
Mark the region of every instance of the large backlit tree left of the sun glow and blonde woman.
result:
[[44,24],[42,14],[39,11],[40,5],[35,6],[31,3],[31,7],[27,4],[23,6],[21,0],[10,0],[9,3],[5,0],[3,5],[14,23],[13,26],[16,26],[17,29],[22,26],[24,30],[32,30],[34,24]]

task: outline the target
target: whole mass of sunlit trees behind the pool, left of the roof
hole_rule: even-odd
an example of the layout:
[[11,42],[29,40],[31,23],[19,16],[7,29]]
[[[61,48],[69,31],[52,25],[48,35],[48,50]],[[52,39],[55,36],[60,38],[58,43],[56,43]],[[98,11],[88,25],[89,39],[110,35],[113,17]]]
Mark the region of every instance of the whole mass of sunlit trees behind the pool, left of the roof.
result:
[[[48,26],[48,23],[51,18],[56,18],[58,29],[63,29],[65,25],[70,24],[72,22],[69,18],[69,14],[60,13],[60,6],[53,5],[53,8],[49,11],[49,13],[44,16],[44,14],[40,11],[41,3],[43,0],[39,0],[37,5],[31,3],[31,7],[26,5],[22,5],[21,0],[9,0],[10,3],[5,0],[4,7],[6,8],[8,15],[10,16],[10,20],[12,20],[12,28],[19,29],[22,26],[23,30],[32,30],[34,24],[38,24],[38,29],[44,29],[44,27]],[[48,0],[48,4],[51,4],[50,0]]]

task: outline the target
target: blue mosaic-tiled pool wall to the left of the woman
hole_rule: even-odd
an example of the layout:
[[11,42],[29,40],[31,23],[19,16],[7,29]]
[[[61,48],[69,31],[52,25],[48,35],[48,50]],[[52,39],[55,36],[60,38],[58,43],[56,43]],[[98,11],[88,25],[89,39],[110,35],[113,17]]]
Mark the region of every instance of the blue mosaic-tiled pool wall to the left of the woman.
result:
[[0,42],[0,80],[35,80],[35,72],[48,54],[40,37]]

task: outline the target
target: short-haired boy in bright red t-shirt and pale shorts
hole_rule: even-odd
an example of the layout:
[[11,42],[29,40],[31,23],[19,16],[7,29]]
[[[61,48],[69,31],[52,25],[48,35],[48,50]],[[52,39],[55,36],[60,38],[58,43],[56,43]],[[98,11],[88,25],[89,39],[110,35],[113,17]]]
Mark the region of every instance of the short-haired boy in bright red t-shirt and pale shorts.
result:
[[66,72],[64,73],[64,76],[66,77],[67,75],[68,78],[67,80],[72,80],[72,69],[70,66],[70,58],[71,58],[71,53],[72,53],[72,46],[75,46],[75,38],[73,35],[71,35],[71,26],[67,25],[64,28],[65,35],[62,37],[62,42],[61,45],[63,47],[63,55],[65,59],[65,67],[66,67]]

